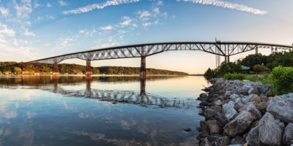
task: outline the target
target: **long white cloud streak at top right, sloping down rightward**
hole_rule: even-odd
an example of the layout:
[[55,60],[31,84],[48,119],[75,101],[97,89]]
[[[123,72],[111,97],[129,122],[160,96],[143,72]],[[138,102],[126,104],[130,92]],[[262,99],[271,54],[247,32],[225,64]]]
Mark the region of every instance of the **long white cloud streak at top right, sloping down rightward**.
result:
[[[176,1],[181,1],[181,0],[176,0]],[[218,0],[183,0],[183,1],[190,1],[193,3],[202,3],[203,5],[206,4],[206,5],[220,6],[222,8],[231,8],[231,9],[258,14],[258,15],[264,15],[267,13],[267,11],[264,11],[264,10],[258,10],[256,8],[250,8],[248,6],[244,6],[237,3],[230,3],[228,1],[218,1]]]

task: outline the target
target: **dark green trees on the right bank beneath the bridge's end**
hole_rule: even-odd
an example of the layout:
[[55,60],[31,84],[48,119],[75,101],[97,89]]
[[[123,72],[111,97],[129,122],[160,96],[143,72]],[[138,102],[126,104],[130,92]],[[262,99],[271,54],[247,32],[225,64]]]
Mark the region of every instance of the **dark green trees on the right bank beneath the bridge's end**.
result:
[[[293,50],[285,52],[284,54],[284,66],[293,67]],[[264,64],[264,66],[262,66]],[[283,65],[282,52],[273,52],[269,55],[249,54],[243,59],[238,59],[234,62],[223,61],[218,68],[208,68],[204,73],[204,76],[209,78],[215,78],[217,75],[225,75],[225,73],[242,73],[241,66],[250,67],[250,71],[260,72],[262,68],[272,71],[273,68]]]

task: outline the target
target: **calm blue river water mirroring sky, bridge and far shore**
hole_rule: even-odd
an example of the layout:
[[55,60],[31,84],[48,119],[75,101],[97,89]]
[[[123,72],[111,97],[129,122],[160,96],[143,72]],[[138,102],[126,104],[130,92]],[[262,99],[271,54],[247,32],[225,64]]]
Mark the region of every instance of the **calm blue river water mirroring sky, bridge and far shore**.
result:
[[202,85],[196,76],[0,75],[0,145],[197,145]]

